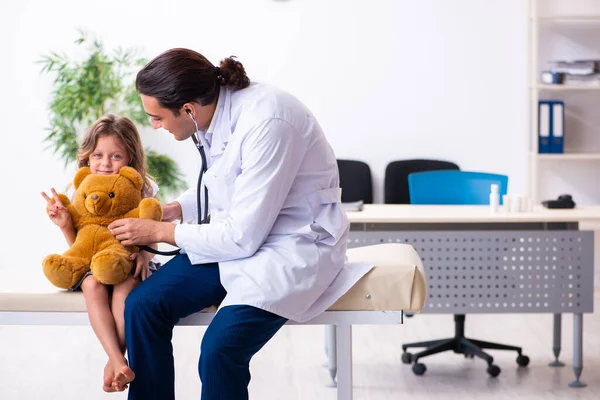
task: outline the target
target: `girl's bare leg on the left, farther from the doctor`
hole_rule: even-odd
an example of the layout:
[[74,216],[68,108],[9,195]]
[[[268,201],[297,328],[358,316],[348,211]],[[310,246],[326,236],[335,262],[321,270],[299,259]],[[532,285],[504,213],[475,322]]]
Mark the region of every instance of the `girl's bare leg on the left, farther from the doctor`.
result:
[[112,382],[115,372],[127,365],[127,361],[123,357],[119,345],[117,327],[110,309],[108,287],[90,275],[83,280],[81,290],[85,297],[92,329],[108,355],[108,364],[104,368],[103,389],[106,392],[112,392],[114,391]]

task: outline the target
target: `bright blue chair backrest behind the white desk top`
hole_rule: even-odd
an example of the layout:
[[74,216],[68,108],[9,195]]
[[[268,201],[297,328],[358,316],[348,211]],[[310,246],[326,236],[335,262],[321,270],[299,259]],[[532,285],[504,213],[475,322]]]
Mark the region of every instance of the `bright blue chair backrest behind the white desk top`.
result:
[[490,185],[498,185],[500,201],[508,176],[469,171],[418,172],[408,176],[411,204],[489,204]]

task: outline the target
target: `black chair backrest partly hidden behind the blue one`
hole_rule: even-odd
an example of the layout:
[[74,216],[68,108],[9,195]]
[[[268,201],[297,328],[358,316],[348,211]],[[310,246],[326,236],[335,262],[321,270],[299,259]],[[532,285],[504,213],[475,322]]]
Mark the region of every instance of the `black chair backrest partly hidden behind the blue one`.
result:
[[384,201],[386,204],[410,204],[408,175],[415,172],[458,170],[458,165],[441,160],[392,161],[385,169]]

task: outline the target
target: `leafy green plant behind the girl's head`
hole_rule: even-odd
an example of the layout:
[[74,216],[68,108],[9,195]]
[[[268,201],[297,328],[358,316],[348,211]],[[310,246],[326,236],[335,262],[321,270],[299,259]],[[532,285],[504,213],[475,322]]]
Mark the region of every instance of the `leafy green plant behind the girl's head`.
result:
[[[50,127],[45,141],[65,165],[76,160],[79,140],[86,129],[106,113],[127,116],[139,127],[149,126],[134,77],[147,60],[136,49],[118,48],[107,53],[102,42],[89,40],[84,32],[75,41],[86,45],[81,61],[51,52],[39,61],[42,73],[54,74],[50,100]],[[161,188],[160,193],[176,195],[185,188],[177,164],[168,156],[146,149],[148,172]]]

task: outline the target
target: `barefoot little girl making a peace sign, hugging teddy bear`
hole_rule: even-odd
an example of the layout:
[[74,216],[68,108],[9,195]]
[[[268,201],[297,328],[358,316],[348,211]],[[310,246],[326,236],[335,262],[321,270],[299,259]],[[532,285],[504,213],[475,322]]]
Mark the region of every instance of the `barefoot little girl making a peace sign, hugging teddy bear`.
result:
[[[146,158],[140,135],[131,120],[125,117],[105,115],[89,128],[77,153],[78,167],[88,166],[92,174],[116,174],[123,166],[135,168],[144,177],[143,197],[155,197],[158,186],[148,177]],[[66,207],[58,194],[51,189],[52,198],[42,192],[48,202],[48,215],[62,230],[69,246],[75,241],[75,229]],[[73,201],[75,191],[67,195]],[[135,272],[126,280],[109,287],[99,283],[88,273],[71,290],[83,291],[90,324],[108,355],[104,367],[103,389],[113,392],[130,382],[135,376],[125,358],[124,316],[125,298],[139,282],[146,279],[148,268],[155,267],[152,255],[147,252],[133,254]],[[112,292],[112,296],[111,296]]]

